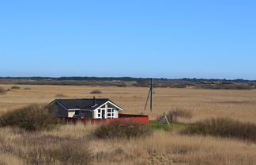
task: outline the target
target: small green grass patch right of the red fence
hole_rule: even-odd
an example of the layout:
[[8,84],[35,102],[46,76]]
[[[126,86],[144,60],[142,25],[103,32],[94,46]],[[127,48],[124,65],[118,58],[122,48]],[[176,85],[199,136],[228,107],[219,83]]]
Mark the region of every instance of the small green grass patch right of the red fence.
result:
[[170,126],[168,126],[168,123],[165,123],[163,121],[157,121],[157,120],[150,120],[149,121],[149,127],[151,127],[154,130],[181,130],[187,126],[185,123],[170,123]]

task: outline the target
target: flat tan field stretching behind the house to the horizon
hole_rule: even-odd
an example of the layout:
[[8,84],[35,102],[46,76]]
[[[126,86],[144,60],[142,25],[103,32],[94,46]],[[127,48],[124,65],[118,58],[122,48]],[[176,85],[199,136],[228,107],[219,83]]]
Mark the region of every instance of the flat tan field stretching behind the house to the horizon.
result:
[[[13,85],[0,85],[6,90]],[[150,119],[174,108],[192,112],[193,118],[186,122],[215,116],[231,117],[240,121],[256,123],[256,90],[206,90],[156,88],[153,95],[153,110],[144,111],[149,92],[145,87],[116,86],[40,86],[19,85],[20,90],[0,94],[0,112],[19,108],[31,103],[49,103],[55,98],[107,97],[120,105],[123,113],[146,114]],[[30,88],[30,90],[24,90]],[[90,94],[100,90],[102,94]],[[63,95],[63,96],[62,96]]]

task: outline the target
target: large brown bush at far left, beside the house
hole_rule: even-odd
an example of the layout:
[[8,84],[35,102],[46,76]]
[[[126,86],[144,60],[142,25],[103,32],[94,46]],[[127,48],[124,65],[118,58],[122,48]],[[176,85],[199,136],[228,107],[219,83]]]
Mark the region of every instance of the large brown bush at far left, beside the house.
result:
[[0,126],[21,127],[25,130],[49,130],[57,123],[43,105],[28,105],[0,116]]

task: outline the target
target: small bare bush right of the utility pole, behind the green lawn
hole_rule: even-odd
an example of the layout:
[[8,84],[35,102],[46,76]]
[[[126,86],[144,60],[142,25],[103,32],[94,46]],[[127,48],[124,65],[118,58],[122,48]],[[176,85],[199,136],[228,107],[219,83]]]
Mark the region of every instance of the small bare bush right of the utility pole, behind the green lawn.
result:
[[[169,122],[177,122],[179,118],[185,118],[185,119],[191,119],[192,114],[186,110],[183,109],[175,109],[168,112],[166,115]],[[158,116],[157,120],[163,120],[163,116]]]

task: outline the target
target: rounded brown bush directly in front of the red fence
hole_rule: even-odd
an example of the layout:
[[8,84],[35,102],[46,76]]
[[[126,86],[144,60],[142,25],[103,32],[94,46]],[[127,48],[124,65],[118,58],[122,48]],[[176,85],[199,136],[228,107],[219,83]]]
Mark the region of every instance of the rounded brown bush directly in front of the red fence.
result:
[[97,138],[138,138],[152,134],[152,130],[137,123],[111,122],[94,131]]

